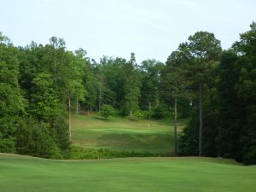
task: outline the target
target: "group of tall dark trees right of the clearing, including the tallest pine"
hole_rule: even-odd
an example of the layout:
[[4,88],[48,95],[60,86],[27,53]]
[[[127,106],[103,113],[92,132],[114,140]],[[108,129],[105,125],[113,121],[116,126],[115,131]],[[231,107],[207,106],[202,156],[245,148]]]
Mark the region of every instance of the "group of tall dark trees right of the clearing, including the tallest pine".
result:
[[179,137],[180,154],[256,163],[255,51],[253,22],[228,50],[212,33],[196,32],[169,57],[170,73],[179,73],[172,90],[189,96],[194,108]]

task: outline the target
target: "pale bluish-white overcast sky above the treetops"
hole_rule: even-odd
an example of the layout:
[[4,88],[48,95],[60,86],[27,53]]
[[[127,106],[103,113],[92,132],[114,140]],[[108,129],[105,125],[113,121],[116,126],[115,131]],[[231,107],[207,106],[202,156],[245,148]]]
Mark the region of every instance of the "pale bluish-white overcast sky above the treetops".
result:
[[166,61],[196,31],[230,48],[256,21],[255,0],[0,0],[0,32],[15,45],[64,38],[67,49]]

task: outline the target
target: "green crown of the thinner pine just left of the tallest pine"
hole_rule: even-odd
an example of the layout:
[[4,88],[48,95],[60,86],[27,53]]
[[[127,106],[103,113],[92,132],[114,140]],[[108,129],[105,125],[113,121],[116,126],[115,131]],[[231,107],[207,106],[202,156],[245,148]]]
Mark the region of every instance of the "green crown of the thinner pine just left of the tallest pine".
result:
[[177,115],[183,118],[189,117],[191,108],[189,102],[195,94],[189,90],[191,81],[186,77],[191,58],[182,45],[177,51],[173,51],[166,61],[166,67],[161,76],[161,102],[167,103],[173,110],[177,99]]

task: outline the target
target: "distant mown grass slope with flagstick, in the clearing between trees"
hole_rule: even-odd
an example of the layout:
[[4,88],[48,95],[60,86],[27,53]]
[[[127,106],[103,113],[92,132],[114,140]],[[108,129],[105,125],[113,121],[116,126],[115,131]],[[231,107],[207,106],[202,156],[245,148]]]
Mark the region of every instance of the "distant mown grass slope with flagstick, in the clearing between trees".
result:
[[[72,125],[73,144],[83,148],[150,153],[171,153],[173,150],[172,120],[73,115]],[[183,123],[178,128],[181,130]]]

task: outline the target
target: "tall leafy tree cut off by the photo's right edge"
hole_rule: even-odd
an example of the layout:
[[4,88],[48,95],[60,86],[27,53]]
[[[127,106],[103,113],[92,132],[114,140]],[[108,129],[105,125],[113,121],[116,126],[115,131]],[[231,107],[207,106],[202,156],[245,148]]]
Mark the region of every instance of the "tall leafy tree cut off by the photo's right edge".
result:
[[[239,79],[236,82],[238,99],[243,103],[240,116],[241,152],[239,159],[247,164],[256,163],[256,23],[253,22],[250,30],[240,35],[240,41],[234,44],[234,49],[241,54],[237,67],[240,69]],[[240,105],[239,105],[240,106]]]

